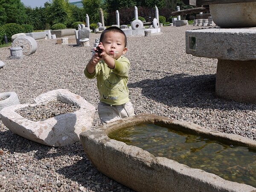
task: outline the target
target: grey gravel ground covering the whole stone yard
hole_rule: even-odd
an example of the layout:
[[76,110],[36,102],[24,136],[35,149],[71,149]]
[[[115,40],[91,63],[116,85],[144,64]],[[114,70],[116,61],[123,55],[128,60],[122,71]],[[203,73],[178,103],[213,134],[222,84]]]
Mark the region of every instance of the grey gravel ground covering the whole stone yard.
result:
[[[195,26],[162,27],[162,35],[128,38],[129,90],[135,113],[155,113],[194,122],[207,129],[256,140],[256,105],[215,97],[217,59],[185,52],[185,31]],[[90,34],[93,45],[99,34]],[[74,36],[73,36],[74,37]],[[41,93],[68,89],[91,104],[99,102],[96,80],[83,70],[91,47],[38,41],[37,51],[19,60],[0,49],[0,93],[14,91],[20,103]],[[100,125],[95,113],[93,127]],[[26,140],[0,122],[1,191],[132,191],[98,172],[81,143],[52,148]]]

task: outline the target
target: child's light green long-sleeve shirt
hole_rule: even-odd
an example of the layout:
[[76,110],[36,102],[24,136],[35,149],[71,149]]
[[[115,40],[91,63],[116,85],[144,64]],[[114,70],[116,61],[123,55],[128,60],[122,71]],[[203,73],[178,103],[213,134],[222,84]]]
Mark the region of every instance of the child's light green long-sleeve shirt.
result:
[[96,64],[95,71],[89,74],[87,68],[84,74],[87,78],[97,78],[97,87],[99,90],[100,101],[109,105],[122,105],[129,101],[128,71],[130,61],[121,56],[115,59],[115,68],[112,70],[105,61],[100,60]]

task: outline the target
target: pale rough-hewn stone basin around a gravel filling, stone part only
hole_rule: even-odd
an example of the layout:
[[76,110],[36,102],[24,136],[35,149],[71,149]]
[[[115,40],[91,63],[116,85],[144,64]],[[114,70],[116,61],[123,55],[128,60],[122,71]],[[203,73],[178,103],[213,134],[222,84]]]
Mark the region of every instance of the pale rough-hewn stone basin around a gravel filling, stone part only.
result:
[[[57,115],[43,121],[24,118],[16,110],[27,106],[44,105],[51,101],[73,103],[80,107],[73,113]],[[26,139],[49,146],[65,146],[79,141],[79,134],[91,128],[95,107],[81,96],[66,89],[52,90],[34,99],[34,104],[5,107],[0,111],[3,124]]]

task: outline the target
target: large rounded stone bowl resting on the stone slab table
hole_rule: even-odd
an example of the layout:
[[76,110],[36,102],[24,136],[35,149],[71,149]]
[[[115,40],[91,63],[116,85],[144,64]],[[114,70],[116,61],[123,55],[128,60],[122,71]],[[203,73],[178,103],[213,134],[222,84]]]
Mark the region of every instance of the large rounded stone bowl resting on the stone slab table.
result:
[[220,27],[255,27],[256,2],[209,5],[214,23]]

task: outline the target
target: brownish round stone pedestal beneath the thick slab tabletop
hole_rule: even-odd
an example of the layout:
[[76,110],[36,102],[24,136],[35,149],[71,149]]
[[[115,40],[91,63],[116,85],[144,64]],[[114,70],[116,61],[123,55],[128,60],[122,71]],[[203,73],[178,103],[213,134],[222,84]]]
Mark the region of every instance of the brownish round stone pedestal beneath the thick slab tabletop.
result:
[[216,96],[256,104],[256,61],[218,60]]

